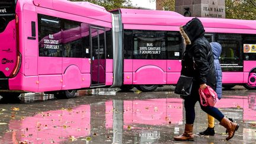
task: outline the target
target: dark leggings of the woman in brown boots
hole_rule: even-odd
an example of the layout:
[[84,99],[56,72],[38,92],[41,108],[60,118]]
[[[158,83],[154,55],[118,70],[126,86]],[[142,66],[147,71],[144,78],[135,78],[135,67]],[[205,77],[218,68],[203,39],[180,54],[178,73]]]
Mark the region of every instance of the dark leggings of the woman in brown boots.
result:
[[199,101],[199,104],[201,106],[201,109],[206,112],[207,114],[210,114],[210,116],[213,116],[215,119],[221,121],[224,117],[222,112],[219,111],[216,107],[210,107],[210,106],[202,106],[200,103],[200,97],[197,93],[196,95],[191,95],[188,98],[185,98],[184,106],[185,106],[185,120],[186,124],[193,124],[195,119],[195,104]]

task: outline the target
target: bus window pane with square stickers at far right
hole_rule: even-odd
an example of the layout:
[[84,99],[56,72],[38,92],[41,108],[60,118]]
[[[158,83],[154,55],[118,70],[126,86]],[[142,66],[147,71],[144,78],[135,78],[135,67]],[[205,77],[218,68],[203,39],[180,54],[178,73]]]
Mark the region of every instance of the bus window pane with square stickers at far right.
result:
[[[242,44],[244,46],[244,60],[256,60],[256,35],[242,34]],[[245,50],[246,46],[248,46],[248,50]]]

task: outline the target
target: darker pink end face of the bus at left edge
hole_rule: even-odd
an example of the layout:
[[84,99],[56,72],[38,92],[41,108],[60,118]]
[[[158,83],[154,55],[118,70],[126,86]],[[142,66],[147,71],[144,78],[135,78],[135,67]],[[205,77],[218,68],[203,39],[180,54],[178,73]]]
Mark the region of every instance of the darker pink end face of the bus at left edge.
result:
[[[17,21],[18,23],[18,21]],[[0,79],[11,78],[18,65],[15,0],[0,1]],[[1,82],[2,83],[2,82]],[[0,85],[1,88],[1,85]]]

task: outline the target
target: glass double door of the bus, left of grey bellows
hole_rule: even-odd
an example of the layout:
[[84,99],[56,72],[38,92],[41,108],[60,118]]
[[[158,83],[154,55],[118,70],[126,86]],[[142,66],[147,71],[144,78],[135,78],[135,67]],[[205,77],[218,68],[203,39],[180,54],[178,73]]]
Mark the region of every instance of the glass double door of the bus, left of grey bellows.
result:
[[105,85],[105,29],[90,27],[91,86]]

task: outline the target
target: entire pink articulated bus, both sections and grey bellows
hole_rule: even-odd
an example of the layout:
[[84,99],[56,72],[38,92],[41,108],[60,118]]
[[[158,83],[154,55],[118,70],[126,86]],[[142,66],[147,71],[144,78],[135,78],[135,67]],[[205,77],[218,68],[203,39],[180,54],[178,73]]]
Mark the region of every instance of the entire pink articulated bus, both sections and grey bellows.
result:
[[[191,17],[172,11],[105,8],[66,0],[0,1],[0,95],[76,89],[153,91],[175,85],[181,71],[179,33]],[[256,89],[256,24],[200,18],[209,41],[222,44],[223,87]]]

